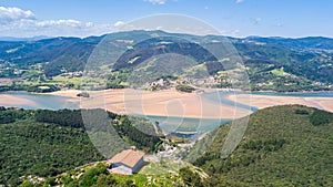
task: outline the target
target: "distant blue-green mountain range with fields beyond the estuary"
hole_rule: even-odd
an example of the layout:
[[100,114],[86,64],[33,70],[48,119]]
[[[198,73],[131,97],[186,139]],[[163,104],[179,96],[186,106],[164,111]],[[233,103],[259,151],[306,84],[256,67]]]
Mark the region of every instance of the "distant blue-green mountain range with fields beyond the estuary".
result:
[[[101,41],[108,40],[105,46]],[[95,80],[104,89],[128,86],[128,79],[141,62],[161,53],[178,53],[195,61],[189,71],[205,67],[215,87],[229,87],[223,66],[202,46],[226,41],[235,48],[246,66],[254,91],[327,91],[333,84],[333,39],[329,38],[260,38],[244,39],[221,35],[190,35],[163,31],[128,31],[101,37],[51,38],[31,41],[0,41],[0,91],[26,90],[52,92],[78,89],[84,67],[95,46],[101,54],[119,56],[113,66],[110,59],[95,62],[107,74]],[[107,49],[112,49],[108,51]],[[123,49],[128,49],[123,52]],[[118,54],[121,52],[121,54]],[[123,52],[123,53],[122,53]],[[102,63],[102,64],[99,64]],[[167,64],[165,64],[167,65]],[[171,64],[172,65],[172,64]],[[174,65],[174,64],[173,64]],[[176,64],[181,69],[182,64]],[[168,65],[167,65],[168,66]],[[141,66],[147,69],[149,66]],[[178,73],[178,72],[176,72]],[[171,74],[167,81],[182,77]],[[175,76],[175,77],[174,77]],[[138,79],[140,80],[140,79]],[[88,81],[87,81],[88,82]]]

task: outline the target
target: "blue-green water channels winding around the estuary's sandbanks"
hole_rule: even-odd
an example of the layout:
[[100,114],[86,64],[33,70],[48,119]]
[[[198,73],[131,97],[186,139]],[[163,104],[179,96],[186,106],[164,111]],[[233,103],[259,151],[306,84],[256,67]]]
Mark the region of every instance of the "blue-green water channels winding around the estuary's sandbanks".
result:
[[[251,112],[258,111],[258,108],[236,103],[228,100],[231,94],[244,94],[233,91],[219,91],[212,93],[203,93],[203,97],[213,102],[221,103],[223,105],[229,105],[233,107],[241,107],[249,110]],[[254,92],[253,95],[270,95],[270,96],[293,96],[293,97],[332,97],[333,93],[320,92],[320,93],[276,93],[276,92]],[[27,110],[47,108],[47,110],[61,110],[61,108],[79,108],[80,102],[71,100],[71,97],[58,96],[58,95],[47,95],[47,94],[36,94],[28,92],[12,92],[12,93],[1,93],[1,97],[9,97],[7,101],[0,105],[6,107],[21,107]],[[29,101],[29,102],[24,102]],[[174,116],[144,116],[151,122],[159,122],[159,126],[167,132],[208,132],[214,129],[221,124],[225,124],[232,120],[211,120],[211,118],[191,118],[191,117],[174,117]]]

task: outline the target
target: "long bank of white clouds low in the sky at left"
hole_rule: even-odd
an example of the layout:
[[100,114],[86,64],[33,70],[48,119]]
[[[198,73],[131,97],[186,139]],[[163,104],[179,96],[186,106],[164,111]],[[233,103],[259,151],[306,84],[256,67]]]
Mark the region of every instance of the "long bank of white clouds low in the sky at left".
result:
[[30,10],[0,7],[0,37],[88,37],[104,34],[113,29],[113,24],[94,24],[73,19],[39,20]]

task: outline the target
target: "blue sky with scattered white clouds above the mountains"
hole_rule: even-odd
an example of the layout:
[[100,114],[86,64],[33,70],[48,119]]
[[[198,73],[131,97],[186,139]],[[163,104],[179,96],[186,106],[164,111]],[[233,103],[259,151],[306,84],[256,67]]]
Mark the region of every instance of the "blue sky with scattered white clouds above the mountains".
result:
[[0,37],[101,35],[174,13],[230,37],[333,38],[332,10],[332,0],[0,0]]

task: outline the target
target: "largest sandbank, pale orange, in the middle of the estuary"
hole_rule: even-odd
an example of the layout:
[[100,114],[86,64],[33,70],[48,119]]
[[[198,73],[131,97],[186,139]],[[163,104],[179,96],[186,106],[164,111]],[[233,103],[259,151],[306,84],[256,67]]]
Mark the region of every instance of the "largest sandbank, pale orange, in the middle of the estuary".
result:
[[129,89],[93,92],[89,98],[81,100],[81,107],[102,107],[120,114],[194,118],[236,118],[250,114],[250,111],[220,105],[200,94],[180,93],[174,89],[159,92]]

